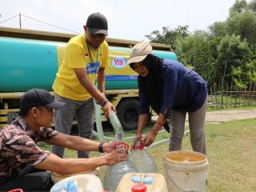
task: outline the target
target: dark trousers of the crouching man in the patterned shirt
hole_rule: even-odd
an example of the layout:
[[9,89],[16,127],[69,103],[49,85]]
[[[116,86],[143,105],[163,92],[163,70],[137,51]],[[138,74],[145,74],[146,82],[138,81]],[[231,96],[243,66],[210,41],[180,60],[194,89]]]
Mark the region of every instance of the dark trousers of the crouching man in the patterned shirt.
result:
[[50,191],[54,182],[50,172],[39,170],[33,166],[26,166],[18,177],[10,178],[0,184],[0,191],[22,189],[23,191]]

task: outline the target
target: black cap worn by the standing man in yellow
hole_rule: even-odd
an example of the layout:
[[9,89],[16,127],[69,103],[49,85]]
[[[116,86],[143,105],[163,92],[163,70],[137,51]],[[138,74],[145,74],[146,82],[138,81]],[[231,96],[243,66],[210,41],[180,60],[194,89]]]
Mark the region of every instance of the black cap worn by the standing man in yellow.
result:
[[103,14],[90,14],[87,18],[86,26],[90,31],[90,34],[108,34],[107,21]]

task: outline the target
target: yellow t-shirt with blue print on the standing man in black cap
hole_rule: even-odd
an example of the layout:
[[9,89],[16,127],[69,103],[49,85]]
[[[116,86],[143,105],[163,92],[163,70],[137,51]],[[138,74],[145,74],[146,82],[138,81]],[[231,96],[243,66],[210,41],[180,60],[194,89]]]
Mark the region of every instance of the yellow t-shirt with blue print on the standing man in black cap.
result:
[[[97,60],[98,65],[94,65]],[[90,58],[91,55],[91,58]],[[79,82],[74,68],[84,68],[91,82],[95,82],[95,73],[99,67],[106,67],[109,62],[109,47],[106,41],[95,49],[90,46],[90,52],[86,45],[85,34],[79,34],[71,38],[66,45],[66,54],[62,66],[58,69],[53,85],[56,94],[63,98],[70,98],[77,101],[85,101],[92,96]]]

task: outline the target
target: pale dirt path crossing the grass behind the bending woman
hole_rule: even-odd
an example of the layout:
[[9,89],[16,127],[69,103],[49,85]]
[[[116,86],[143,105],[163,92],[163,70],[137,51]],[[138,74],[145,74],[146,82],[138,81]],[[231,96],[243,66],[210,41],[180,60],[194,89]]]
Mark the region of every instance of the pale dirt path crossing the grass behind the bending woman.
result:
[[[256,118],[256,110],[222,110],[206,113],[206,122],[230,122],[233,120]],[[152,117],[153,120],[157,116]]]

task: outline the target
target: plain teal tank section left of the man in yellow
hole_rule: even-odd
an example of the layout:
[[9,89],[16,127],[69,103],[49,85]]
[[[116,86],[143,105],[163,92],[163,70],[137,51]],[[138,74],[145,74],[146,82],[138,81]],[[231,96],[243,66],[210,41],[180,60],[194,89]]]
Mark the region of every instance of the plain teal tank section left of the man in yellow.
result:
[[58,70],[56,42],[0,38],[0,50],[0,92],[52,90]]

